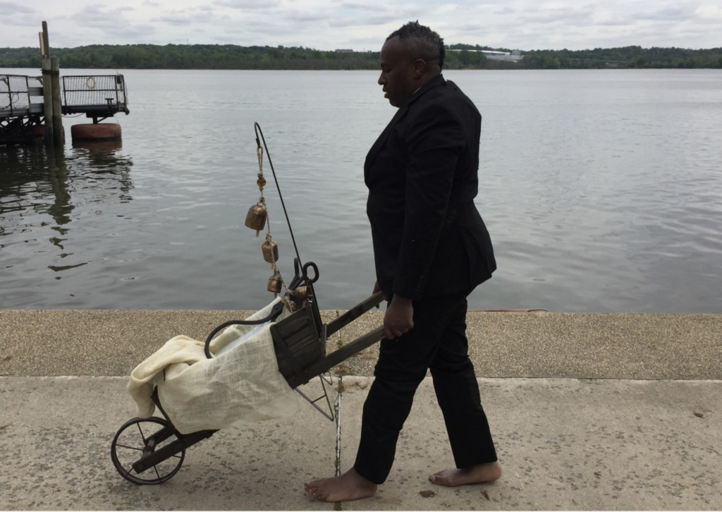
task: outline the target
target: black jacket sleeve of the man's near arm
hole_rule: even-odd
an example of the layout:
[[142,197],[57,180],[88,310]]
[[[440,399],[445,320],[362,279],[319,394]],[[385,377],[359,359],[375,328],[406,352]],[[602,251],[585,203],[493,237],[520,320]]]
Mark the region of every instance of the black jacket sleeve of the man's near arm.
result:
[[445,103],[415,105],[406,131],[404,230],[393,292],[422,297],[466,147],[461,122]]

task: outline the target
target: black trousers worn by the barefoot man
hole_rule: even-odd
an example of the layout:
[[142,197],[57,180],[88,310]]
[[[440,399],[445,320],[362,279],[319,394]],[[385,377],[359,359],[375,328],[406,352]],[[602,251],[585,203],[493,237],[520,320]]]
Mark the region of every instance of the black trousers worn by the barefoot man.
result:
[[381,484],[419,383],[431,370],[456,467],[497,460],[466,339],[466,293],[414,301],[414,328],[380,344],[354,469]]

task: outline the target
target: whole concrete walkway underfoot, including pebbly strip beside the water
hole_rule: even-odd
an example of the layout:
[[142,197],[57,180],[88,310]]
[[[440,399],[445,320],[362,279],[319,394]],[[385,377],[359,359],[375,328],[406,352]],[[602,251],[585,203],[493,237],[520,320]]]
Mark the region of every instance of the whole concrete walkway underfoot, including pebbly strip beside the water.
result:
[[[339,425],[304,404],[191,446],[162,485],[123,480],[110,442],[135,415],[132,368],[176,334],[204,339],[248,314],[0,310],[0,509],[722,509],[722,315],[469,313],[505,470],[492,484],[427,480],[453,461],[425,381],[374,498],[334,506],[304,493],[304,481],[336,471],[337,443],[341,469],[353,462],[376,347],[335,369]],[[381,314],[343,329],[329,350]]]

